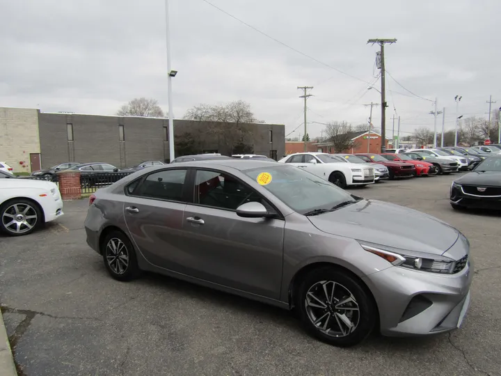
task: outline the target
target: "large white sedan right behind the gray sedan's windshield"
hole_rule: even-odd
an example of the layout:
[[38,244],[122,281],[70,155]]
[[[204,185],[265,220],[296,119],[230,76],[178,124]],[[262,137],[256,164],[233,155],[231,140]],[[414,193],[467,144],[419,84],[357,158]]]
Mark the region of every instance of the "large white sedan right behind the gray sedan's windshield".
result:
[[340,188],[374,183],[374,169],[371,166],[340,162],[334,155],[326,152],[297,152],[278,162],[304,169]]

